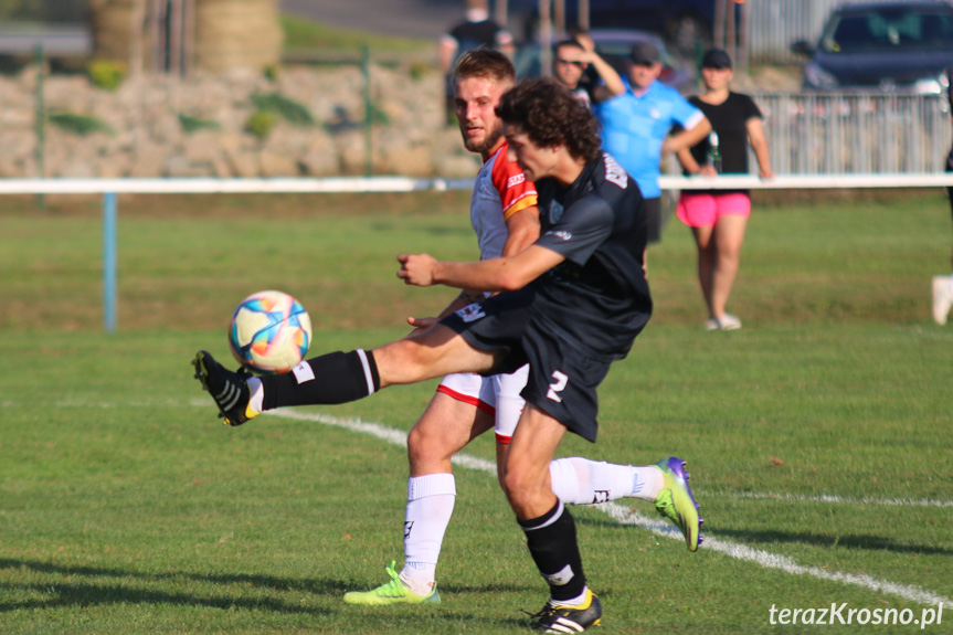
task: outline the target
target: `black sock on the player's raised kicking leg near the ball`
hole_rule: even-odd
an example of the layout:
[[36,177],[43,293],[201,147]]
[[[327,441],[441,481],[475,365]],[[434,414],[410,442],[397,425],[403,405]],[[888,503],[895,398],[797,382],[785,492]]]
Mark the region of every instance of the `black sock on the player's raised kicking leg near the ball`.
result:
[[374,356],[361,349],[309,359],[285,374],[262,378],[263,410],[284,405],[347,403],[381,388]]

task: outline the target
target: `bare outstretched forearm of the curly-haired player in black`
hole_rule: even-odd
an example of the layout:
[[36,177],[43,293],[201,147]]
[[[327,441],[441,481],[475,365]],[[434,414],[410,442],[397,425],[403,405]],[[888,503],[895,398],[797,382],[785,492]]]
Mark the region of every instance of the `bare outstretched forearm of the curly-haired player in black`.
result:
[[476,263],[437,261],[430,254],[401,254],[398,277],[409,285],[507,292],[520,289],[565,260],[561,254],[530,245],[513,256]]

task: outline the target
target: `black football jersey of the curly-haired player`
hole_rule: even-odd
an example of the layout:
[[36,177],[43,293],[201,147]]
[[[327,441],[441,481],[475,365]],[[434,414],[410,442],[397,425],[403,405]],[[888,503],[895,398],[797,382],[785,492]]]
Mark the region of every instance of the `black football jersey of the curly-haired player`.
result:
[[565,261],[533,284],[534,321],[594,359],[626,356],[652,315],[647,216],[635,179],[610,155],[565,187],[537,181],[540,239]]

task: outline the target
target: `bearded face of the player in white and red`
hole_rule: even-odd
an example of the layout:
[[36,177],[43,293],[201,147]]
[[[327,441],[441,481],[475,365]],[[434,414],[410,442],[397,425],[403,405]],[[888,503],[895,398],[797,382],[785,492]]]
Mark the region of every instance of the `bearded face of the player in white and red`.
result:
[[502,139],[502,121],[496,114],[500,96],[509,86],[485,77],[458,80],[454,105],[464,147],[488,155]]

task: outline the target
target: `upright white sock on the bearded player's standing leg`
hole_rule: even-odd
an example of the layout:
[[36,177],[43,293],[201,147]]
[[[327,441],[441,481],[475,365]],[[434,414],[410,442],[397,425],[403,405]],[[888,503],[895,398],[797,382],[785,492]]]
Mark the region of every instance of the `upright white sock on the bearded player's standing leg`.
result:
[[427,595],[433,590],[456,493],[453,474],[427,474],[407,479],[401,582],[419,595]]

